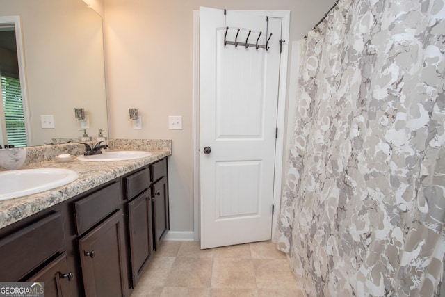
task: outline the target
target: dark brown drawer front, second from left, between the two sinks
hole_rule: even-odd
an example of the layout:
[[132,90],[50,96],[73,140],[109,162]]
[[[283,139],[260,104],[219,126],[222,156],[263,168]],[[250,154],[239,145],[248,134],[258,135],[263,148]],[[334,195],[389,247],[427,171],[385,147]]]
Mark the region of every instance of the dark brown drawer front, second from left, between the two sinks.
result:
[[122,205],[120,182],[74,202],[77,234],[81,235]]

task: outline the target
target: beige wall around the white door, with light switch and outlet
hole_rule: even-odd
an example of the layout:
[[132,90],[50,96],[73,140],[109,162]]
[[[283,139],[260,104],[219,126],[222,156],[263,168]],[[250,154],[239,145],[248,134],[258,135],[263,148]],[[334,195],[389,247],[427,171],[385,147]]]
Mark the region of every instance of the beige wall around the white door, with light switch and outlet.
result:
[[[104,9],[108,116],[113,138],[169,138],[172,231],[193,231],[192,11],[290,10],[289,42],[302,38],[334,0],[106,0]],[[128,109],[138,108],[135,130]],[[168,115],[183,129],[169,130]]]

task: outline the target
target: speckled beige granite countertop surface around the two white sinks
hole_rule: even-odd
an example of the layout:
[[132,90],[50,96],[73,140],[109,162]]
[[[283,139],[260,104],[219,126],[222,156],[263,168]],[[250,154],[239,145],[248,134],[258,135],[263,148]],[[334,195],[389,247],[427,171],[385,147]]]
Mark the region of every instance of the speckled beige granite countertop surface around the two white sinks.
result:
[[21,168],[67,168],[76,171],[79,178],[49,191],[0,201],[0,228],[172,154],[171,150],[147,151],[151,152],[152,156],[127,161],[88,162],[77,159],[67,163],[42,161]]

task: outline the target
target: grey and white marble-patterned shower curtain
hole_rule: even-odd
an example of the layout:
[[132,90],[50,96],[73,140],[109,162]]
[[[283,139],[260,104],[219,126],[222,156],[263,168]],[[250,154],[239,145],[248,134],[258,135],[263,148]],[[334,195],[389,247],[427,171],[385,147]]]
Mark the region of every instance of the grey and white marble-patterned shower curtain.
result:
[[309,32],[277,247],[308,296],[434,296],[445,0],[340,0]]

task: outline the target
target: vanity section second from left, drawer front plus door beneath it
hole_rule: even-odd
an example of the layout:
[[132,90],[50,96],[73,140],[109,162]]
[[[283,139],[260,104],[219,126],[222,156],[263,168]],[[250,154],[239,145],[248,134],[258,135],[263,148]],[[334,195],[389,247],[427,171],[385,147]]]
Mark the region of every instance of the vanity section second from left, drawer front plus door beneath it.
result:
[[73,203],[86,296],[128,296],[121,185],[115,179]]

